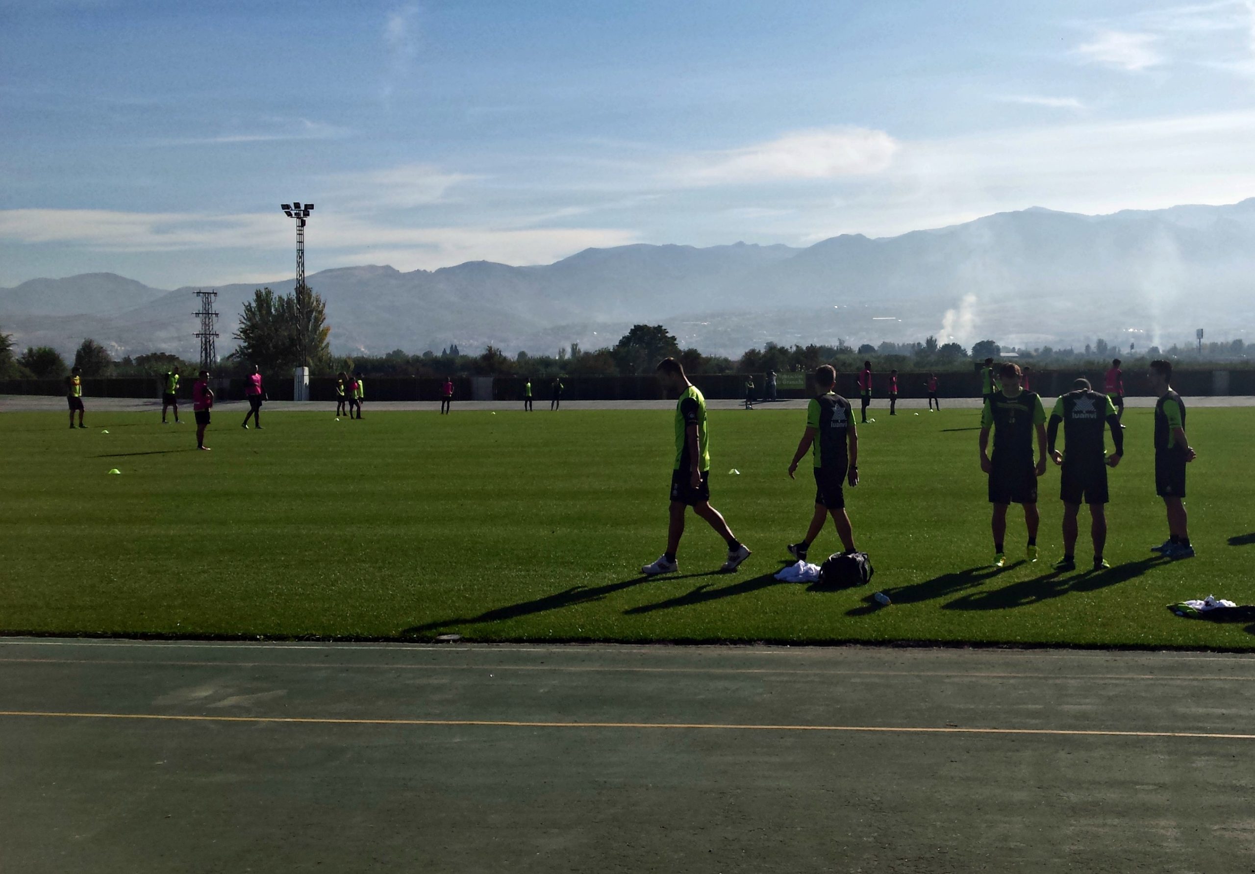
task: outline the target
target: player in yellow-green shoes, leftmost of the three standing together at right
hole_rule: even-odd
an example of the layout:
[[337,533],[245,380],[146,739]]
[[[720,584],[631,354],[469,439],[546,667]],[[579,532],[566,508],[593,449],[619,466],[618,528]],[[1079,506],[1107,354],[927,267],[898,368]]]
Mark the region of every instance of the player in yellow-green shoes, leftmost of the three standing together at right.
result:
[[[1007,507],[1024,506],[1029,561],[1037,561],[1037,477],[1045,473],[1045,411],[1042,398],[1020,387],[1019,364],[1003,364],[1003,391],[985,401],[980,417],[980,470],[989,475],[989,502],[994,505],[994,566],[1007,566],[1003,540],[1007,537]],[[988,455],[989,429],[994,429],[994,457]],[[1033,466],[1033,432],[1037,431],[1039,460]]]

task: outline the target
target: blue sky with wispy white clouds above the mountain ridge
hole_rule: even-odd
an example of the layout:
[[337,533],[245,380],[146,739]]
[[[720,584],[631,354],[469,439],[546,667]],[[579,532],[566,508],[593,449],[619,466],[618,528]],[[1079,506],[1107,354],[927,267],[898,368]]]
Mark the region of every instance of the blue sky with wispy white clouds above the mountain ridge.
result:
[[1255,0],[0,0],[0,285],[1255,195]]

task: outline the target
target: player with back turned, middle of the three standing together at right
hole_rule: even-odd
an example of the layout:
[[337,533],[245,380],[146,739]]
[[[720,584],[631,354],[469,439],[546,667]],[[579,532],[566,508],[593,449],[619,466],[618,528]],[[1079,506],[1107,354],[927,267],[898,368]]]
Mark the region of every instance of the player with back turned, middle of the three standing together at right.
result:
[[[1067,452],[1054,448],[1063,423],[1063,441]],[[1111,426],[1111,440],[1116,452],[1108,458],[1103,446],[1103,426]],[[1059,497],[1063,500],[1063,560],[1057,570],[1077,569],[1077,515],[1081,501],[1089,505],[1089,536],[1094,542],[1094,570],[1111,565],[1103,561],[1102,550],[1107,544],[1107,468],[1119,463],[1124,455],[1124,432],[1111,398],[1093,391],[1088,379],[1077,379],[1073,389],[1054,402],[1050,423],[1047,427],[1050,457],[1062,466]]]

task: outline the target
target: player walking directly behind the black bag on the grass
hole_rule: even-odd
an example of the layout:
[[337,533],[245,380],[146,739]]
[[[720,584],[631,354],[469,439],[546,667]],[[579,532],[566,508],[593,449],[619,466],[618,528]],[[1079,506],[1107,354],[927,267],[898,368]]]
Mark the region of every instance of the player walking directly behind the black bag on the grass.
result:
[[788,466],[792,480],[797,466],[811,450],[814,461],[814,515],[811,527],[801,542],[789,544],[788,553],[798,561],[806,561],[806,553],[832,515],[837,526],[837,536],[847,553],[855,551],[855,535],[846,514],[845,483],[858,485],[858,433],[855,431],[853,407],[843,397],[833,392],[837,386],[837,372],[825,364],[814,372],[814,386],[820,396],[811,398],[806,411],[806,432],[793,453]]

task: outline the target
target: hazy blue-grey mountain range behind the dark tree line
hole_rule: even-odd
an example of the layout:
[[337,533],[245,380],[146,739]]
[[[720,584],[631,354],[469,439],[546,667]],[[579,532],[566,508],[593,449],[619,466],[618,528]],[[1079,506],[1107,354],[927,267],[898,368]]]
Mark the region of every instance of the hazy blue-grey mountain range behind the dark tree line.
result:
[[[734,355],[778,343],[880,343],[935,334],[964,344],[1138,347],[1255,328],[1255,198],[1084,216],[1029,208],[896,237],[842,235],[807,249],[735,244],[589,249],[550,265],[472,261],[309,278],[328,303],[336,352],[551,353],[612,344],[635,321],[684,345]],[[290,291],[294,280],[270,288]],[[220,288],[220,352],[255,285]],[[0,289],[0,324],[20,345],[73,350],[94,337],[118,354],[191,355],[192,288],[149,289],[112,274]]]

